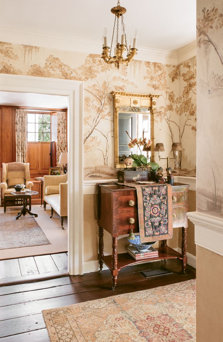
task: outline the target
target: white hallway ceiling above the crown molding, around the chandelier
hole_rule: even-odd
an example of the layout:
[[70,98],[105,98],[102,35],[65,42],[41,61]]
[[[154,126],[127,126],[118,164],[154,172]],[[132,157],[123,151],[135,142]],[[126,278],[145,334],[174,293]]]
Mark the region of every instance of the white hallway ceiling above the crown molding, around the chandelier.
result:
[[[1,0],[0,24],[93,41],[101,41],[106,26],[110,42],[115,18],[110,9],[116,4],[116,0]],[[174,51],[196,39],[196,0],[120,0],[120,4],[127,9],[127,40],[137,28],[139,47]]]

